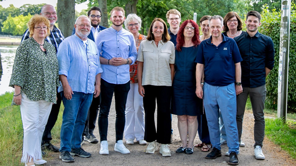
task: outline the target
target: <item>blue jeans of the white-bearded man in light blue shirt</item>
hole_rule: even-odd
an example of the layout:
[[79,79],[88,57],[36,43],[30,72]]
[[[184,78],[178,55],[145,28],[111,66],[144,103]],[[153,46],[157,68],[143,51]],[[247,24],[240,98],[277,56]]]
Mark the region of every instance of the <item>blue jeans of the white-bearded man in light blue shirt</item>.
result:
[[61,92],[65,106],[61,128],[60,152],[77,149],[80,147],[81,135],[84,130],[85,120],[90,107],[93,94],[73,92],[71,100],[67,100]]

